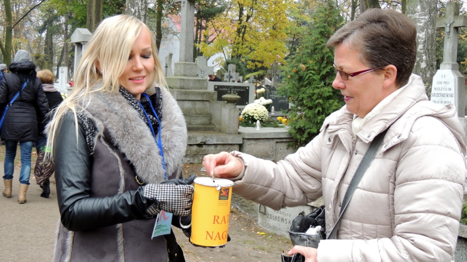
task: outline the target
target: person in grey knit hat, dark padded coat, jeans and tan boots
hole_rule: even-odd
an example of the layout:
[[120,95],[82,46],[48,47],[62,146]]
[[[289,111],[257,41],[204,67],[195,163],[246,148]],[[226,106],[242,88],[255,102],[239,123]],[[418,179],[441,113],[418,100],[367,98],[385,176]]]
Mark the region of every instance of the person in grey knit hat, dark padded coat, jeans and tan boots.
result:
[[9,106],[0,131],[6,150],[3,176],[5,188],[2,194],[4,197],[11,197],[14,162],[19,143],[21,171],[19,172],[18,202],[24,204],[31,175],[31,153],[34,142],[39,136],[38,123],[42,122],[49,112],[49,103],[42,90],[42,83],[36,77],[36,66],[29,59],[28,51],[19,50],[9,68],[11,73],[6,74],[0,83],[2,111],[16,94],[19,93],[19,96]]

